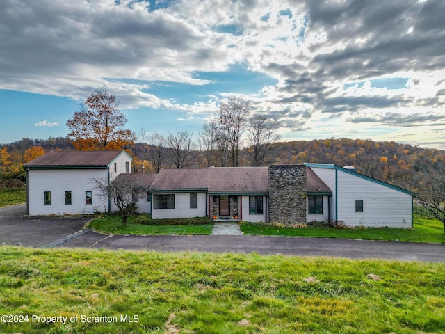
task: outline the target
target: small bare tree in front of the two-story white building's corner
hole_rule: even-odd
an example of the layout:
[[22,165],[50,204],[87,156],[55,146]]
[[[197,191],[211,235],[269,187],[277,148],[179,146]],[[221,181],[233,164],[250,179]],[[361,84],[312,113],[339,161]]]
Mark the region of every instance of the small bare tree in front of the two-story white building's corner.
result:
[[123,226],[127,225],[128,216],[133,214],[136,202],[148,191],[140,174],[120,174],[111,182],[108,178],[92,180],[99,189],[100,196],[107,201],[113,200],[118,207]]

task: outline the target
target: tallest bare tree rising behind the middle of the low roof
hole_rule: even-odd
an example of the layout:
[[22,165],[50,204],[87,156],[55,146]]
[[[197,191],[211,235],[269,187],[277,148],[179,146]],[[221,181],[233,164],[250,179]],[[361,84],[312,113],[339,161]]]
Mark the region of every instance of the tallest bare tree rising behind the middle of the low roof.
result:
[[248,124],[250,106],[243,97],[229,97],[220,104],[218,111],[218,144],[227,150],[227,159],[231,166],[239,166],[241,137]]

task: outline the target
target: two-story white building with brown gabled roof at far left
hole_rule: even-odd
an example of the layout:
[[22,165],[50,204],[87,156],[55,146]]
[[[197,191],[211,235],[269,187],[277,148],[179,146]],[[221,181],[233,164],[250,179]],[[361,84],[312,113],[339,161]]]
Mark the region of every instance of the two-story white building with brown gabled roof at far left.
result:
[[27,214],[110,212],[111,201],[99,196],[93,179],[131,173],[131,160],[124,151],[51,151],[29,161],[24,164]]

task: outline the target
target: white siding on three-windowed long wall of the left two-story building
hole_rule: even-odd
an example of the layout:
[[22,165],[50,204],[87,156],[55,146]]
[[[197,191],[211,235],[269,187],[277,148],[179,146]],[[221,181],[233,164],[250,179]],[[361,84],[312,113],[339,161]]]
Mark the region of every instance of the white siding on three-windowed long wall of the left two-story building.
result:
[[[106,169],[29,170],[29,215],[81,214],[83,209],[106,212],[92,178],[108,177]],[[51,191],[51,205],[44,205],[44,192]],[[65,191],[71,191],[72,204],[65,205]],[[86,205],[85,192],[92,191],[92,204]]]

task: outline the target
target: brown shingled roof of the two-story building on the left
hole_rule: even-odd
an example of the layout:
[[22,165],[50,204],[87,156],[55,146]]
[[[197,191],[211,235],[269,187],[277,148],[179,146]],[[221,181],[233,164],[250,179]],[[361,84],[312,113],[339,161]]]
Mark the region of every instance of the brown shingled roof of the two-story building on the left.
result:
[[123,151],[50,151],[24,164],[32,167],[104,167]]

